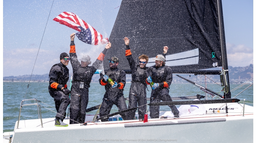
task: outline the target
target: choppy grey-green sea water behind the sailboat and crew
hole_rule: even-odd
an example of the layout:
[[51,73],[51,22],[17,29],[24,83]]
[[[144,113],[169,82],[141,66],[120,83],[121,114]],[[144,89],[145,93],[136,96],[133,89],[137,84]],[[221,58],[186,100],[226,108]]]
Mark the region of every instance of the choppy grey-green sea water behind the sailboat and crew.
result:
[[[20,102],[24,99],[24,96],[27,90],[27,85],[28,85],[27,82],[4,82],[3,83],[3,132],[11,132],[14,130],[15,122],[18,120]],[[53,98],[50,96],[48,92],[48,85],[49,83],[36,83],[36,82],[30,83],[30,86],[27,90],[26,99],[35,98],[52,107],[55,107]],[[69,88],[70,83],[67,83],[67,85]],[[101,86],[99,83],[91,83],[90,85],[91,87],[89,88],[89,103],[87,108],[101,104],[103,95],[105,93],[104,86]],[[125,88],[123,91],[125,98],[129,96],[130,85],[131,83],[126,83],[125,85]],[[230,89],[234,89],[237,86],[239,86],[239,84],[230,84]],[[246,84],[241,88],[231,92],[232,98],[248,86],[249,85]],[[219,93],[221,90],[221,87],[218,86],[217,84],[207,84],[207,88],[217,93]],[[148,86],[148,90],[149,91],[147,91],[147,97],[149,98],[151,94],[150,86]],[[203,91],[201,91],[198,87],[190,83],[171,84],[169,90],[170,90],[169,94],[171,97],[191,96],[191,95],[197,95],[197,94],[205,95]],[[220,92],[220,94],[223,94],[223,93]],[[249,103],[253,103],[253,85],[248,89],[246,89],[244,92],[242,92],[240,95],[238,95],[236,98],[240,100],[246,99],[247,101],[245,102],[248,102],[248,103],[245,103],[245,104],[253,106],[253,104],[249,104]],[[28,103],[34,103],[34,102],[26,101],[25,104],[26,103],[28,104]],[[43,106],[41,108],[42,118],[55,117],[56,109],[49,107],[46,104],[41,103],[41,105]],[[126,101],[126,104],[128,106],[128,101]],[[52,112],[44,107],[51,109],[55,112]],[[87,114],[95,115],[96,111],[97,110],[91,111],[91,112],[88,112]],[[111,113],[117,112],[117,111],[118,109],[114,105],[111,109]],[[168,106],[160,106],[160,111],[170,111],[170,108]],[[36,106],[25,106],[22,108],[20,120],[36,119],[36,118],[38,118]]]

